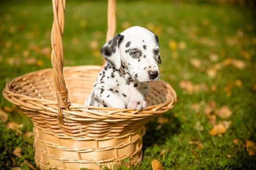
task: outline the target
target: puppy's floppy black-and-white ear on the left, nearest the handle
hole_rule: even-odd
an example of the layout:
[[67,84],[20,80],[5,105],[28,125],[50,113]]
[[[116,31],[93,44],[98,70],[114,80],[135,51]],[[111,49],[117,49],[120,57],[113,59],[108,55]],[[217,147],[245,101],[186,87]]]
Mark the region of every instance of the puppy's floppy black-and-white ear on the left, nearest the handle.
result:
[[120,44],[123,40],[124,35],[117,34],[101,47],[102,56],[117,70],[121,68]]

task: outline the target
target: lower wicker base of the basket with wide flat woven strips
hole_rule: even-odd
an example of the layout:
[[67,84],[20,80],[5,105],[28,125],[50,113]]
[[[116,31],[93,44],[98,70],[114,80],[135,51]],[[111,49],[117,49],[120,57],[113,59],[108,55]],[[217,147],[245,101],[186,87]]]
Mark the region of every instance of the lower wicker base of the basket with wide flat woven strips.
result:
[[[104,167],[111,169],[123,163],[122,160],[128,157],[130,162],[126,166],[140,163],[143,155],[141,148],[142,137],[145,134],[144,126],[129,135],[106,140],[88,137],[74,138],[65,135],[56,136],[35,124],[33,132],[35,136],[35,163],[40,169],[74,170],[88,168],[102,170]],[[92,143],[97,143],[97,148],[88,149],[88,145]],[[70,147],[68,148],[69,144]]]

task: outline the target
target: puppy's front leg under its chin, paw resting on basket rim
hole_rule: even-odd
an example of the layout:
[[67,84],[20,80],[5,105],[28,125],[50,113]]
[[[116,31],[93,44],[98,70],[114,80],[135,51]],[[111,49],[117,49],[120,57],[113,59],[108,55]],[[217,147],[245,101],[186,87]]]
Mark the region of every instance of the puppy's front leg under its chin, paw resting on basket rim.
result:
[[144,99],[148,92],[148,86],[146,88],[138,88],[135,91],[133,91],[127,108],[132,108],[133,110],[141,110],[143,108],[146,108],[146,102]]

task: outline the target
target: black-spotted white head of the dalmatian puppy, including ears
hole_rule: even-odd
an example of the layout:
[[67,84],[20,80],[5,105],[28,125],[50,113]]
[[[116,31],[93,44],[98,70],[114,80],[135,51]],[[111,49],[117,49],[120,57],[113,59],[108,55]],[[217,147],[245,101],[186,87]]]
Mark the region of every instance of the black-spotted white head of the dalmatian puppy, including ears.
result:
[[140,26],[132,26],[115,35],[101,48],[101,54],[117,70],[121,64],[133,79],[151,82],[159,78],[161,64],[157,35]]

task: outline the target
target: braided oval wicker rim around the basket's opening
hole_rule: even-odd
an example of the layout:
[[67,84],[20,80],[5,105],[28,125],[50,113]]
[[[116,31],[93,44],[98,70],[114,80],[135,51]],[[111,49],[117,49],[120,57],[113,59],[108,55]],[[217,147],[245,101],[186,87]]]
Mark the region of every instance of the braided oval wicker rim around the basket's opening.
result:
[[[85,68],[88,67],[89,69],[101,69],[102,66],[97,66],[97,65],[85,65],[85,66],[64,66],[63,69],[63,73],[65,73],[65,71],[68,71],[70,69],[74,69],[74,70],[79,70],[81,68]],[[32,100],[34,102],[34,106],[27,106],[27,109],[29,107],[32,107],[35,110],[42,110],[41,106],[39,104],[37,104],[37,102],[42,103],[45,106],[51,106],[52,107],[52,113],[47,113],[48,115],[54,114],[56,115],[58,113],[58,103],[57,101],[52,101],[49,99],[40,99],[40,98],[33,98],[33,97],[29,97],[27,95],[22,95],[22,94],[18,94],[15,93],[13,91],[11,91],[11,85],[15,84],[14,82],[18,79],[25,79],[25,76],[27,75],[33,75],[33,74],[41,74],[41,71],[52,71],[52,68],[44,68],[38,71],[33,71],[33,72],[29,72],[26,73],[24,75],[21,75],[19,77],[13,78],[9,83],[6,84],[6,87],[4,88],[3,91],[3,95],[5,98],[7,98],[7,100],[9,100],[9,102],[17,105],[17,106],[22,106],[24,105],[24,103],[22,103],[22,101],[25,101],[27,99]],[[109,121],[117,121],[117,119],[140,119],[143,117],[148,117],[148,116],[152,116],[152,114],[155,113],[164,113],[166,112],[166,110],[169,110],[171,108],[173,108],[174,103],[176,102],[176,93],[173,90],[173,88],[171,87],[171,85],[169,85],[168,83],[164,82],[163,80],[159,80],[159,82],[161,82],[160,84],[164,84],[165,86],[168,86],[169,89],[171,89],[171,93],[173,95],[173,99],[169,99],[166,102],[162,103],[162,104],[156,104],[156,105],[151,105],[146,107],[144,110],[132,110],[131,108],[126,108],[126,109],[121,109],[121,108],[110,108],[110,107],[99,107],[99,106],[87,106],[87,105],[83,105],[83,104],[76,104],[76,103],[71,103],[69,108],[70,110],[65,110],[63,109],[63,116],[66,119],[71,119],[71,120],[81,120],[81,121],[88,121],[88,118],[90,119],[90,121],[92,119],[106,119],[106,118],[112,118],[115,120],[109,120]],[[17,97],[18,99],[13,98],[13,96]],[[11,97],[11,98],[10,98]],[[167,105],[167,106],[166,106]],[[159,109],[162,109],[161,111],[159,111]],[[77,110],[77,111],[75,111]],[[98,110],[98,111],[96,111]],[[84,117],[84,115],[86,115],[86,118],[82,118]],[[71,116],[76,116],[76,117],[71,117]],[[97,115],[97,117],[95,117],[95,115]]]

